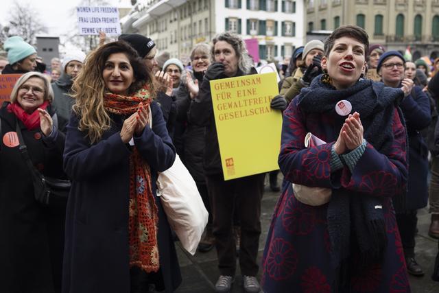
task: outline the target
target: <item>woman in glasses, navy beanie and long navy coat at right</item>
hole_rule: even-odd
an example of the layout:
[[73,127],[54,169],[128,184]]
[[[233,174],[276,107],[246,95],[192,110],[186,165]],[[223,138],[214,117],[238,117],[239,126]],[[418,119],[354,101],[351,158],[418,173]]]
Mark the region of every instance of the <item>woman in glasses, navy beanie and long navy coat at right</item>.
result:
[[405,78],[405,59],[398,51],[385,52],[379,59],[377,72],[386,86],[393,88],[406,85],[412,89],[401,104],[407,137],[409,141],[409,176],[407,181],[407,196],[404,204],[394,202],[396,222],[401,233],[407,272],[414,276],[423,276],[424,272],[415,260],[414,236],[416,234],[416,210],[427,205],[427,173],[428,149],[420,134],[429,126],[431,121],[429,98],[419,86],[414,86],[410,78]]

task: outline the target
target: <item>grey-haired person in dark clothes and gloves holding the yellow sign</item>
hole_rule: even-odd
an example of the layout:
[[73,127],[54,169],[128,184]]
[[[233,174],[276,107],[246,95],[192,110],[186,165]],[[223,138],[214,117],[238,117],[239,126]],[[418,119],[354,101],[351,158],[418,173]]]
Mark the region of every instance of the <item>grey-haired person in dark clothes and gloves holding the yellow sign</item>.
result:
[[[244,276],[244,290],[259,292],[259,283],[256,279],[259,270],[257,253],[259,235],[261,235],[261,198],[265,174],[224,180],[209,84],[211,80],[257,72],[252,67],[244,41],[241,37],[228,32],[218,34],[213,39],[212,62],[213,64],[204,74],[198,97],[191,102],[189,120],[198,126],[206,126],[204,172],[211,196],[213,235],[221,273],[215,284],[215,291],[228,292],[235,279],[236,246],[233,237],[233,214],[236,213],[239,215],[241,225],[239,265]],[[272,108],[285,107],[285,99],[272,100]]]

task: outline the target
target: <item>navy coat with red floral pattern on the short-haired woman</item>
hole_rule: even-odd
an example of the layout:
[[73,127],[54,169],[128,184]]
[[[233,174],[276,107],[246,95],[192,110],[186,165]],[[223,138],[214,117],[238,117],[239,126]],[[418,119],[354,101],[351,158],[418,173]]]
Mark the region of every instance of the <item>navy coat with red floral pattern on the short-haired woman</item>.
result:
[[[380,154],[368,143],[353,169],[331,176],[331,148],[344,117],[303,113],[296,97],[283,117],[279,166],[289,183],[310,187],[335,185],[353,196],[368,194],[383,198],[388,246],[382,263],[372,269],[350,272],[351,292],[410,292],[405,259],[396,226],[392,196],[399,196],[407,180],[405,129],[395,110],[392,123],[394,141],[390,156]],[[354,109],[355,110],[355,109]],[[361,114],[361,113],[360,113]],[[305,148],[311,132],[329,143]],[[296,200],[292,184],[287,184],[276,204],[263,253],[262,285],[272,292],[335,292],[335,270],[331,266],[331,244],[327,230],[327,206],[311,207]],[[352,256],[351,257],[355,257]]]

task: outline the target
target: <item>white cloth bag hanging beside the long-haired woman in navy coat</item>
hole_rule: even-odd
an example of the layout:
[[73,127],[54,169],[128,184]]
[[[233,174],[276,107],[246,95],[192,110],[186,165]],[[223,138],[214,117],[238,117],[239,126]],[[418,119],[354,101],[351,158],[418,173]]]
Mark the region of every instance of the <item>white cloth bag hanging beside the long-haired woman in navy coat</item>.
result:
[[195,255],[209,213],[198,192],[191,174],[178,154],[174,165],[158,173],[157,189],[171,229],[182,246]]

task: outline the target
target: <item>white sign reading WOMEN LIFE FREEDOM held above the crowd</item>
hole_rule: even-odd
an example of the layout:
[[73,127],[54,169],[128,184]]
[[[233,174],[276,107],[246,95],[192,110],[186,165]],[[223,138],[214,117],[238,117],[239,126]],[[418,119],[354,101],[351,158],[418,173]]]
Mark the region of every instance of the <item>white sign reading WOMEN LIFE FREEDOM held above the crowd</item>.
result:
[[105,32],[108,36],[121,34],[119,10],[116,7],[77,7],[76,16],[82,35],[99,32]]

